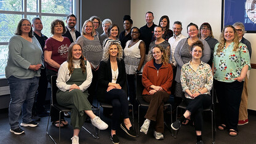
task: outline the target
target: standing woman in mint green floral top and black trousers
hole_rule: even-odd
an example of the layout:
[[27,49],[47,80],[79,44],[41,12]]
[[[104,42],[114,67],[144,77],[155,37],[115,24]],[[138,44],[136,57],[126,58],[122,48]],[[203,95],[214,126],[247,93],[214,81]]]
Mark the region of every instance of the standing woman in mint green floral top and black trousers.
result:
[[250,56],[245,44],[238,40],[238,32],[231,26],[222,30],[220,42],[214,48],[214,87],[220,103],[219,130],[238,135],[238,114],[244,78],[250,70]]

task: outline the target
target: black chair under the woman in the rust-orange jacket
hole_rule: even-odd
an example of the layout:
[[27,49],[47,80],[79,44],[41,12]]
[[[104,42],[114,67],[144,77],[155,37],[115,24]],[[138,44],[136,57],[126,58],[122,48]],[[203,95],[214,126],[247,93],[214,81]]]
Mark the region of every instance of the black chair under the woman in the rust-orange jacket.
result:
[[[138,132],[140,131],[140,106],[148,107],[150,106],[150,103],[145,102],[142,98],[142,91],[144,89],[144,86],[142,85],[142,73],[136,73],[136,100],[138,102]],[[164,103],[164,107],[170,106],[170,111],[172,111],[172,105],[169,102]],[[172,113],[170,113],[170,123],[172,124]],[[170,128],[166,122],[164,124]],[[172,132],[172,130],[170,130]],[[137,132],[137,137],[138,137]]]

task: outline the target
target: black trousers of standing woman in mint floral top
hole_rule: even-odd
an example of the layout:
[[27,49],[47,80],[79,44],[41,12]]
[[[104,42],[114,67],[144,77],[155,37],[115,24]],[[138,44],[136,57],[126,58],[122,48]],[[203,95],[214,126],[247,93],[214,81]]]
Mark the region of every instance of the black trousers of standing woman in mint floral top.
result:
[[214,79],[214,88],[220,103],[220,124],[228,129],[238,130],[239,106],[244,81],[221,82]]

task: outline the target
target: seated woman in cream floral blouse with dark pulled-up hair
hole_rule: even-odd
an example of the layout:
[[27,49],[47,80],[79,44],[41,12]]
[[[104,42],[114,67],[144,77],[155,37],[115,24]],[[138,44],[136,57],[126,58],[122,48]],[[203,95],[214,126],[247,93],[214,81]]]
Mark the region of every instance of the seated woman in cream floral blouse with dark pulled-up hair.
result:
[[213,76],[210,65],[201,61],[204,45],[201,41],[196,41],[191,45],[192,60],[182,66],[180,82],[183,92],[185,92],[186,111],[181,118],[172,123],[174,130],[180,129],[182,122],[189,116],[194,121],[197,143],[202,142],[202,110],[211,105]]

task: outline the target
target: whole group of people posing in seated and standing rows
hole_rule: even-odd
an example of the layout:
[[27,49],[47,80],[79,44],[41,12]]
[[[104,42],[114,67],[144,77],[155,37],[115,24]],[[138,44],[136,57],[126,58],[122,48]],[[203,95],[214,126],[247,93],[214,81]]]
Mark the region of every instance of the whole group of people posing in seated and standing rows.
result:
[[[244,25],[238,22],[225,26],[218,42],[209,23],[202,23],[200,28],[190,23],[186,38],[181,22],[174,22],[170,30],[167,15],[160,18],[159,25],[153,23],[153,12],[146,12],[145,19],[146,25],[137,28],[132,26],[130,16],[125,15],[124,31],[119,35],[118,25],[110,19],[102,22],[92,16],[84,22],[80,34],[75,30],[76,16],[70,14],[66,26],[58,19],[51,23],[50,38],[41,33],[40,18],[33,18],[32,24],[27,19],[20,20],[9,41],[6,66],[11,98],[10,132],[23,134],[25,131],[20,126],[38,126],[31,119],[34,99],[38,113],[46,113],[47,80],[50,82],[51,76],[57,75],[57,102],[71,108],[72,143],[79,143],[79,130],[86,119],[100,130],[108,128],[92,112],[94,98],[113,105],[110,135],[113,143],[119,143],[118,126],[136,137],[128,105],[135,104],[135,73],[142,72],[145,87],[142,95],[150,106],[140,132],[147,134],[150,122],[154,121],[154,137],[164,139],[164,102],[172,94],[174,107],[182,100],[188,104],[185,113],[171,125],[172,129],[178,130],[182,124],[193,121],[197,143],[203,143],[202,110],[212,104],[210,90],[214,85],[222,110],[218,129],[228,129],[229,135],[236,136],[238,124],[248,122],[246,82],[252,50],[250,42],[243,37]],[[101,24],[103,34],[100,35],[96,30]],[[126,84],[128,95],[124,90]],[[244,95],[242,100],[241,95]],[[119,124],[121,114],[123,121]],[[64,113],[61,122],[57,110],[52,109],[50,116],[53,126],[68,125]]]

